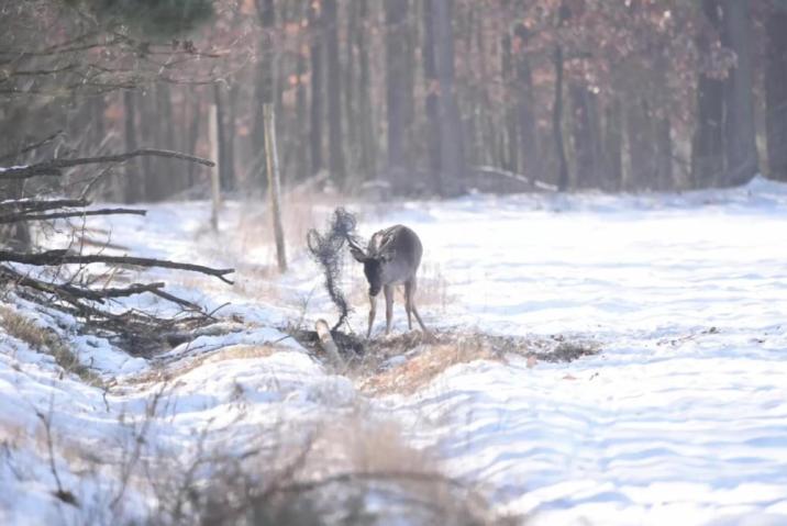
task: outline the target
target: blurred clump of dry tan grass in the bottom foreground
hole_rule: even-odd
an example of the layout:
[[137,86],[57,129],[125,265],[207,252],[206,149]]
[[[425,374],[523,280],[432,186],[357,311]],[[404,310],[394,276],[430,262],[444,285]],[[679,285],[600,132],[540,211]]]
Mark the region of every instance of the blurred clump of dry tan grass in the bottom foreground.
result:
[[148,469],[160,473],[163,503],[152,524],[513,524],[494,518],[477,491],[407,445],[396,424],[354,414],[314,423],[306,440],[279,432],[280,447],[243,459],[206,452],[207,485],[190,480],[188,467]]

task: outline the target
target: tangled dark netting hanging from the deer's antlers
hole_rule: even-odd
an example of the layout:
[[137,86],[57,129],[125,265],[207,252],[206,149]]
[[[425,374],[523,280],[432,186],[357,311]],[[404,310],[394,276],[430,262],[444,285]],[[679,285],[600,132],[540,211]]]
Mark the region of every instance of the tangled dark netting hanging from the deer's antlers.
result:
[[307,234],[309,253],[322,267],[325,275],[325,289],[336,305],[336,309],[339,309],[339,322],[336,322],[331,331],[339,328],[350,313],[347,300],[339,287],[342,275],[342,266],[340,264],[342,261],[342,248],[344,244],[350,239],[358,243],[358,238],[355,235],[356,224],[357,220],[355,215],[340,208],[333,212],[331,222],[324,233],[321,234],[315,228],[312,228]]

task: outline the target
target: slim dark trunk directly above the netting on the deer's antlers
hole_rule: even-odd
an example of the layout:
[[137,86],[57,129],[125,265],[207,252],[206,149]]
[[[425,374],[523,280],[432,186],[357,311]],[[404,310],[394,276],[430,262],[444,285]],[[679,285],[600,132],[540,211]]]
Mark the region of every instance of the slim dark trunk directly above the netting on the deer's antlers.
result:
[[336,0],[323,0],[325,19],[325,52],[328,54],[328,143],[331,177],[340,187],[345,183],[344,147],[342,136],[342,85],[339,61],[339,16]]

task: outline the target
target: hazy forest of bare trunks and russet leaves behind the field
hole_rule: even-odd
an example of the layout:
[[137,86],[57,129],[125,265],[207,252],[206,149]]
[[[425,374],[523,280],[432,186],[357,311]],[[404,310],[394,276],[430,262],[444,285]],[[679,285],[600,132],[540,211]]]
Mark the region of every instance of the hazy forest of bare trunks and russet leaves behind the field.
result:
[[[787,180],[780,0],[36,0],[0,18],[9,154],[60,132],[71,155],[208,156],[215,107],[223,191],[262,194],[271,103],[286,186],[323,175],[340,192],[451,197]],[[207,192],[196,168],[125,170],[107,199]]]

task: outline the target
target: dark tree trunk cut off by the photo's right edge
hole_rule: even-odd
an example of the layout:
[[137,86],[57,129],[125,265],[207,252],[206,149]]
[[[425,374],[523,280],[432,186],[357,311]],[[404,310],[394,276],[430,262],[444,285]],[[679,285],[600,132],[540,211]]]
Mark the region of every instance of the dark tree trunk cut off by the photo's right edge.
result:
[[765,29],[768,37],[765,67],[768,176],[787,182],[787,5],[774,5]]

